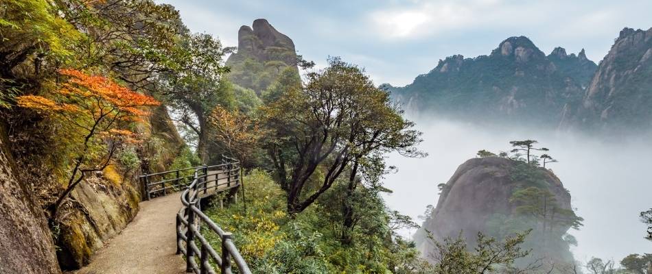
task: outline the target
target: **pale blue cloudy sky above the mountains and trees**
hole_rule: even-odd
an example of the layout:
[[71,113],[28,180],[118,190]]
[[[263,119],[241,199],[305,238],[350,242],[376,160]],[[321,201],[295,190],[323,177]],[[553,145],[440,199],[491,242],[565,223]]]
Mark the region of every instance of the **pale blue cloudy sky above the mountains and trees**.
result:
[[404,86],[449,55],[486,55],[510,36],[546,54],[586,49],[598,62],[623,27],[652,27],[652,1],[527,0],[157,0],[171,3],[194,32],[237,45],[237,29],[266,18],[299,54],[364,66],[376,84]]

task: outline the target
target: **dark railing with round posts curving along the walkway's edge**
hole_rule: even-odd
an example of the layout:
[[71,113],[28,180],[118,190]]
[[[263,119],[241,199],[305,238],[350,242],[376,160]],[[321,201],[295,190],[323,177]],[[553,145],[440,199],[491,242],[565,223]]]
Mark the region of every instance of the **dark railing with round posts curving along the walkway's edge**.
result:
[[[222,161],[224,164],[193,168],[192,180],[181,193],[182,207],[176,214],[176,253],[185,256],[186,271],[189,273],[217,273],[213,269],[214,264],[220,269],[219,273],[231,274],[231,267],[235,263],[238,273],[251,274],[249,266],[240,255],[240,251],[235,247],[233,235],[224,232],[209,216],[202,212],[200,206],[202,198],[225,191],[233,191],[233,195],[237,199],[237,188],[242,189],[244,196],[244,188],[241,187],[242,170],[240,169],[240,162],[233,158],[224,157],[224,159]],[[166,171],[147,176],[170,173],[178,174],[178,171]],[[147,177],[145,176],[145,178]],[[180,176],[176,175],[174,177],[176,181],[170,178],[161,180],[170,183],[170,186],[167,187],[165,182],[162,184],[161,182],[152,183],[149,179],[145,179],[145,186],[159,186],[149,190],[145,188],[145,190],[148,193],[156,195],[162,193],[165,195],[167,189],[172,188],[173,185],[182,185],[178,178]],[[174,182],[174,184],[171,182]],[[150,195],[148,195],[148,198],[151,197]],[[205,229],[201,229],[202,225],[205,225]],[[211,246],[211,243],[205,237],[205,234],[208,233],[216,234],[220,238],[221,248],[218,250],[219,252]]]

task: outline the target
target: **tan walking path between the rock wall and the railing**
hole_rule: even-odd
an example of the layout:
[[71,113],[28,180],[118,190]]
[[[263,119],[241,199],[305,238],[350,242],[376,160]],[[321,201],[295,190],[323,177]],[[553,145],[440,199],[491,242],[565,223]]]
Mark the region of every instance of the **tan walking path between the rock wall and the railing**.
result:
[[140,203],[140,211],[121,234],[108,241],[75,274],[185,273],[176,252],[176,212],[181,192]]

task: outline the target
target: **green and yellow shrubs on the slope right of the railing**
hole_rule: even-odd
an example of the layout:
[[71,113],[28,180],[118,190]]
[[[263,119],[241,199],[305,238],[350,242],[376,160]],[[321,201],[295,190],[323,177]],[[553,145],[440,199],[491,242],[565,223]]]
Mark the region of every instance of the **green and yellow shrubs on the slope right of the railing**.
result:
[[[356,240],[344,245],[335,214],[340,210],[337,201],[316,203],[292,219],[286,213],[285,192],[268,173],[255,170],[243,181],[246,212],[244,204],[237,203],[224,209],[213,206],[207,214],[233,233],[253,273],[390,273],[390,269],[395,273],[422,273],[408,270],[426,265],[413,242],[387,229],[390,218],[380,200],[371,199],[380,204],[368,209],[374,215],[369,218],[375,221],[365,221],[375,229],[362,225],[356,229]],[[337,195],[331,197],[336,199]],[[216,236],[209,240],[220,245]]]

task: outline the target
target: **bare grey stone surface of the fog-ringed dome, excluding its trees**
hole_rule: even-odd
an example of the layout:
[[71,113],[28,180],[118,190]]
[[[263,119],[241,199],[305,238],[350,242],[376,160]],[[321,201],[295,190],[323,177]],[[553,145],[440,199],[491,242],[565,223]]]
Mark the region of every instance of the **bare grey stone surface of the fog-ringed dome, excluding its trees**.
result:
[[[426,216],[422,228],[415,235],[423,256],[428,258],[428,253],[434,248],[424,229],[431,232],[438,242],[448,237],[456,238],[462,232],[461,235],[471,247],[475,245],[478,232],[502,238],[492,234],[491,221],[496,216],[512,216],[515,213],[515,205],[510,199],[513,192],[522,186],[513,177],[517,164],[519,162],[507,158],[488,157],[467,160],[459,166],[443,187],[431,216]],[[542,173],[545,186],[554,194],[559,207],[571,210],[570,194],[557,176],[546,169],[536,169]],[[566,232],[569,228],[561,227],[560,230]],[[561,236],[558,240],[561,240]],[[568,245],[562,245],[561,249],[565,250],[560,253],[570,254]]]

